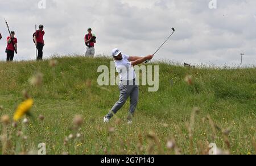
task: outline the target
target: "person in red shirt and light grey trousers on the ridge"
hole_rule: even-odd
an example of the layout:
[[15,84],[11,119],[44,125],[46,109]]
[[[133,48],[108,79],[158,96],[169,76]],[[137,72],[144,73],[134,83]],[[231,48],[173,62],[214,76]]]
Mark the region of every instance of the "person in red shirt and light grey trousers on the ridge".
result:
[[88,28],[88,34],[85,35],[84,42],[86,45],[85,56],[94,57],[94,43],[96,43],[96,36],[92,34],[92,28]]

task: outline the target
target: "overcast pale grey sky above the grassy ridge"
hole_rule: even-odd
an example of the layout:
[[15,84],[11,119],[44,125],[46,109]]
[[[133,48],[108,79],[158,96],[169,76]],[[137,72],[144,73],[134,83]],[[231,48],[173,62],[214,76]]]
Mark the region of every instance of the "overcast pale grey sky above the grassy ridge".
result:
[[5,60],[6,29],[3,18],[18,38],[15,60],[35,59],[32,34],[44,24],[44,56],[84,54],[84,36],[92,27],[97,36],[96,54],[110,55],[119,48],[127,55],[154,53],[168,40],[156,59],[192,64],[256,65],[256,1],[217,0],[0,0],[0,60]]

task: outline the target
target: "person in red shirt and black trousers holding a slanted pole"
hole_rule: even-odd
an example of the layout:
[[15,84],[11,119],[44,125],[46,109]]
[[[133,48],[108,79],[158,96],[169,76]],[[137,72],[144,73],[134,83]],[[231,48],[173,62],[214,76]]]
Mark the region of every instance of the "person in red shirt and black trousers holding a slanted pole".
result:
[[18,53],[17,51],[17,38],[14,38],[15,32],[11,31],[11,36],[7,37],[7,47],[6,47],[6,60],[13,61],[14,52]]

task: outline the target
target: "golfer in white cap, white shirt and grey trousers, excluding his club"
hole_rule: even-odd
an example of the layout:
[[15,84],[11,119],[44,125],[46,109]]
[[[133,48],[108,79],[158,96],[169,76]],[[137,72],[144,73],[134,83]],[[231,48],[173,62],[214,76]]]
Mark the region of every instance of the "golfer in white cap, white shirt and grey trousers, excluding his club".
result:
[[132,117],[134,115],[138,99],[139,99],[139,87],[135,81],[136,74],[133,66],[142,64],[147,60],[151,60],[154,56],[148,55],[145,57],[138,56],[128,56],[122,54],[119,49],[115,48],[112,51],[112,56],[114,57],[115,68],[119,73],[120,82],[119,82],[119,91],[120,96],[119,100],[115,103],[113,108],[109,113],[104,117],[104,122],[108,123],[114,114],[117,113],[119,109],[125,104],[128,97],[130,97],[130,110],[127,117],[128,124],[132,123]]

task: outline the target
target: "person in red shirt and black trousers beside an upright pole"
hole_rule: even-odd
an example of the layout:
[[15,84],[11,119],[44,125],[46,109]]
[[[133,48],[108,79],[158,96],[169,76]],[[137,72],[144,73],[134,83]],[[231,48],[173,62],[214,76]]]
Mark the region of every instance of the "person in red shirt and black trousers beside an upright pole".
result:
[[36,48],[38,49],[37,60],[43,59],[44,34],[45,34],[43,29],[44,29],[44,26],[39,25],[39,30],[35,32],[35,36],[34,36],[35,45],[36,45]]

